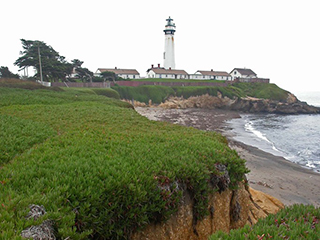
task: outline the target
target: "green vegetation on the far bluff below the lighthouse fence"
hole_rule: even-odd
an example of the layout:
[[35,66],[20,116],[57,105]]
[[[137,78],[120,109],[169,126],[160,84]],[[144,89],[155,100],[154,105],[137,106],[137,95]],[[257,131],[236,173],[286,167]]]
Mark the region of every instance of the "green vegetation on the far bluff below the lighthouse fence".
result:
[[181,86],[150,86],[143,85],[139,87],[114,86],[114,90],[119,92],[120,98],[128,100],[136,100],[148,103],[164,102],[169,97],[177,96],[189,98],[191,96],[201,96],[208,94],[210,96],[218,96],[221,93],[223,97],[255,97],[277,101],[286,101],[288,91],[279,88],[275,84],[269,83],[234,83],[227,87],[181,87]]

